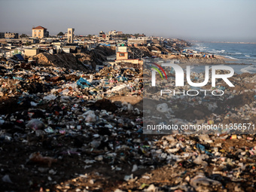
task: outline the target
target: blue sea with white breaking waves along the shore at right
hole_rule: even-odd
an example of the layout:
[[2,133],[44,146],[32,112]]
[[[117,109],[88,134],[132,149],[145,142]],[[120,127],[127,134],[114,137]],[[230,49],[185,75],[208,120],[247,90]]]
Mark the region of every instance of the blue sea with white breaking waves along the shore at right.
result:
[[[194,43],[189,49],[233,59],[233,61],[225,61],[227,63],[252,64],[250,66],[230,65],[237,74],[256,73],[256,44]],[[194,72],[204,72],[204,67],[194,67]]]

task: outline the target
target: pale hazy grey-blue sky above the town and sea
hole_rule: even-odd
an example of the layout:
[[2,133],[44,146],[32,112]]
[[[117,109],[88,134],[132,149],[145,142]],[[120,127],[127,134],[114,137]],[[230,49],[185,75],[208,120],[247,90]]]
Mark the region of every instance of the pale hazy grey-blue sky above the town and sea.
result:
[[0,32],[123,33],[199,41],[256,42],[255,0],[0,0]]

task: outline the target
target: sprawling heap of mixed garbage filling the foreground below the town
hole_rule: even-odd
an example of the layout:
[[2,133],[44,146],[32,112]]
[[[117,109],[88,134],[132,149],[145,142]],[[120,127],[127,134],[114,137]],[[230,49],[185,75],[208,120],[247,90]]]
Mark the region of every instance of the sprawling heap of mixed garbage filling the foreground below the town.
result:
[[[142,70],[116,66],[86,74],[14,63],[0,70],[2,190],[255,190],[253,134],[143,134]],[[234,80],[245,87],[255,77]],[[157,101],[151,108],[188,123],[254,122],[255,88],[246,90],[230,89],[223,101],[175,97],[172,105],[151,95]]]

